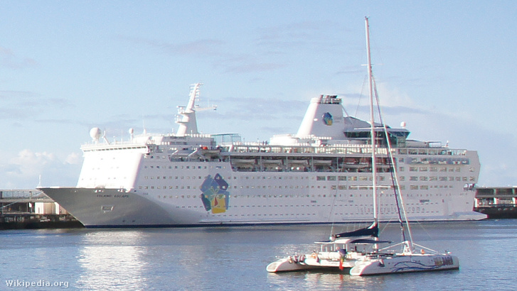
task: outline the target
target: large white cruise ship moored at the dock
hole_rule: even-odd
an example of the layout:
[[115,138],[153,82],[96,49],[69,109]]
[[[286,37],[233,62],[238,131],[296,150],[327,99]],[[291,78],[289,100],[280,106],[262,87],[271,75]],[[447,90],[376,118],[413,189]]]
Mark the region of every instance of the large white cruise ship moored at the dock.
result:
[[[39,189],[92,228],[371,221],[371,126],[343,114],[340,97],[311,99],[296,134],[245,143],[236,133],[198,132],[200,86],[178,107],[176,133],[129,129],[129,141],[110,142],[92,128],[77,187]],[[386,190],[379,219],[398,217],[394,172],[408,219],[486,218],[473,211],[477,152],[413,141],[402,127],[375,124],[377,185]]]

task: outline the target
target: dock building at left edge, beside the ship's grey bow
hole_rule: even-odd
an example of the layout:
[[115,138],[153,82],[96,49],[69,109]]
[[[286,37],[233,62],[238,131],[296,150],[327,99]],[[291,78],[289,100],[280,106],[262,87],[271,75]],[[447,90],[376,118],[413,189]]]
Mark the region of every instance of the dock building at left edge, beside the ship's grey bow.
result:
[[75,227],[82,224],[39,190],[0,190],[0,229]]

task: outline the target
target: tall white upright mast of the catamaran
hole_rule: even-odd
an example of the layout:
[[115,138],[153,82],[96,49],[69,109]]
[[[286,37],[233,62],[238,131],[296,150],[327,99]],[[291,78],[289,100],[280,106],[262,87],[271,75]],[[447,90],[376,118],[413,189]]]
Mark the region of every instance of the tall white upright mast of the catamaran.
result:
[[376,139],[375,139],[375,119],[373,117],[373,82],[372,82],[372,62],[370,55],[370,26],[368,26],[368,17],[365,17],[366,25],[366,56],[368,58],[368,93],[370,95],[370,122],[371,122],[371,148],[372,148],[372,187],[373,187],[373,222],[378,224],[377,214],[377,159],[375,156]]

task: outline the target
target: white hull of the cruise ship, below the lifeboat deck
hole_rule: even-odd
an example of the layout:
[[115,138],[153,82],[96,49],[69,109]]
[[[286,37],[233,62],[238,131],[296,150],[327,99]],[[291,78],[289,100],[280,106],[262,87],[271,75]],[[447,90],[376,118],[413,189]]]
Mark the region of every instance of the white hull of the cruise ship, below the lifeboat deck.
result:
[[[373,207],[368,187],[371,182],[366,178],[371,174],[368,172],[233,172],[230,163],[171,163],[144,158],[144,155],[141,158],[137,185],[142,186],[132,190],[124,187],[40,189],[87,227],[326,224],[371,220]],[[103,159],[99,158],[98,162]],[[151,169],[151,165],[154,168]],[[173,165],[171,169],[169,165]],[[174,165],[178,165],[177,169]],[[154,179],[151,180],[149,172]],[[224,207],[207,210],[201,199],[201,187],[207,177],[216,175],[228,183],[225,190],[228,197],[220,199]],[[383,175],[389,180],[389,173]],[[437,174],[427,172],[426,175]],[[414,221],[484,219],[486,216],[472,211],[474,191],[464,189],[463,178],[455,180],[446,183],[447,188],[436,182],[436,187],[432,185],[432,190],[427,191],[421,191],[420,187],[429,185],[428,181],[412,182],[418,190],[407,190],[411,185],[406,183],[408,218]],[[397,221],[393,197],[386,194],[379,199],[381,221]]]

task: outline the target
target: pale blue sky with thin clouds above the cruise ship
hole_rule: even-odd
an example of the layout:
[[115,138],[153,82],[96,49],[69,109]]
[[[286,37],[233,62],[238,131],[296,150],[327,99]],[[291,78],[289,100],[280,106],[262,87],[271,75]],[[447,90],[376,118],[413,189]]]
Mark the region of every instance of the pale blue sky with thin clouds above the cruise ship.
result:
[[178,128],[296,133],[337,94],[368,120],[364,17],[383,119],[477,150],[480,186],[517,185],[515,1],[2,1],[0,189],[75,186],[80,146]]

